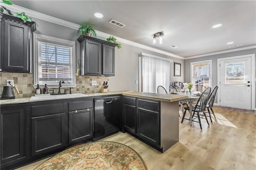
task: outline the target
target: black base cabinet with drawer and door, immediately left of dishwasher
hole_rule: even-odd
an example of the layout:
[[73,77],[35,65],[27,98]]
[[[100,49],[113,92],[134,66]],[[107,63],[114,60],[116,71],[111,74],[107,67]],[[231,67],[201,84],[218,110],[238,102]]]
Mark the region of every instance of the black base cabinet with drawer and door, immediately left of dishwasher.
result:
[[93,138],[93,101],[69,103],[68,143]]

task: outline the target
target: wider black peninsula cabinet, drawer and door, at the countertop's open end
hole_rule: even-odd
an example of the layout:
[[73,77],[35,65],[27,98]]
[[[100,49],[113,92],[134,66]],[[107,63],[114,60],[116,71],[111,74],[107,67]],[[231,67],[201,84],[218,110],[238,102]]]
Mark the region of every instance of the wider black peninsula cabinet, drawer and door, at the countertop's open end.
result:
[[138,99],[137,134],[142,139],[159,146],[159,102]]

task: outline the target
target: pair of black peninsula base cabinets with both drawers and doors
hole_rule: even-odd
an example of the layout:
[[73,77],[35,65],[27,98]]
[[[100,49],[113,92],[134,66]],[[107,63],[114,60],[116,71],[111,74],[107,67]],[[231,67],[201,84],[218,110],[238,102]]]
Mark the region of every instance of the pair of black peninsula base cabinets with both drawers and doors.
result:
[[124,129],[160,147],[160,102],[128,96],[123,102]]

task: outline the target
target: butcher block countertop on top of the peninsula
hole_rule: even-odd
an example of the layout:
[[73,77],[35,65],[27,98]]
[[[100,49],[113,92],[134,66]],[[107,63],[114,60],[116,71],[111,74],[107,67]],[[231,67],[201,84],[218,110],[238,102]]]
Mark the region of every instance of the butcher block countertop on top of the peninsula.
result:
[[178,100],[183,100],[188,98],[188,96],[179,94],[158,94],[158,93],[148,93],[148,92],[126,92],[122,94],[123,96],[132,96],[137,98],[145,98],[152,100],[160,100],[164,102],[175,102]]

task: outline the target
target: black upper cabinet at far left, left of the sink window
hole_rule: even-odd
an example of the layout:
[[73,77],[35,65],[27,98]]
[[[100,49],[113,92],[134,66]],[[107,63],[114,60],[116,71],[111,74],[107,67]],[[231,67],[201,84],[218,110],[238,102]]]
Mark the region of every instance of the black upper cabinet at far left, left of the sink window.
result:
[[36,23],[23,22],[15,16],[0,13],[1,71],[31,72],[32,32]]

